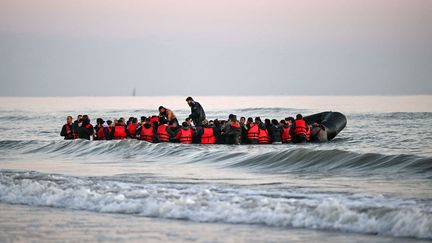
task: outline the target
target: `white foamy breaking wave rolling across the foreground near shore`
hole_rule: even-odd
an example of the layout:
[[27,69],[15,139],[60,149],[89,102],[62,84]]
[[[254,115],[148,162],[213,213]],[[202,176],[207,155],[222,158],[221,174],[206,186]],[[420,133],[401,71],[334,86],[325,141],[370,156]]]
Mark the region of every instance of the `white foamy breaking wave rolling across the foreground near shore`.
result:
[[432,239],[430,202],[384,196],[1,172],[0,201],[196,222]]

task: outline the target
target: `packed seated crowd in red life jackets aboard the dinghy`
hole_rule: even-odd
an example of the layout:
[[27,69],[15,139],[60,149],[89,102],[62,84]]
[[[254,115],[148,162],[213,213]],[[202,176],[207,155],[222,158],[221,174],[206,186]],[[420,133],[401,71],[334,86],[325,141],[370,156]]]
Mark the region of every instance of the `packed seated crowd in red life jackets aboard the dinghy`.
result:
[[[163,107],[162,107],[163,108]],[[88,115],[79,115],[72,122],[67,117],[61,136],[65,139],[87,140],[123,140],[138,139],[150,143],[181,144],[281,144],[303,143],[310,139],[311,126],[303,120],[301,114],[296,119],[287,117],[284,120],[261,120],[260,117],[241,117],[230,114],[227,120],[207,120],[194,124],[186,118],[178,124],[172,113],[168,118],[166,108],[160,109],[159,115],[142,116],[140,119],[130,117],[104,121],[96,119],[93,126]]]

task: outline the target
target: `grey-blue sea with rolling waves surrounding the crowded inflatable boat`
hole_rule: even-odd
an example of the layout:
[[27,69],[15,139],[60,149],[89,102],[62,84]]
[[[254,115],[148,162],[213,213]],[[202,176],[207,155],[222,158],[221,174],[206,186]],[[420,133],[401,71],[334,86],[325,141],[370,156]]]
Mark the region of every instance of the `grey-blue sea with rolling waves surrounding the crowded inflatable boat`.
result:
[[179,120],[185,97],[0,98],[0,241],[432,240],[432,96],[195,97],[208,119],[339,111],[304,145],[65,141],[68,115]]

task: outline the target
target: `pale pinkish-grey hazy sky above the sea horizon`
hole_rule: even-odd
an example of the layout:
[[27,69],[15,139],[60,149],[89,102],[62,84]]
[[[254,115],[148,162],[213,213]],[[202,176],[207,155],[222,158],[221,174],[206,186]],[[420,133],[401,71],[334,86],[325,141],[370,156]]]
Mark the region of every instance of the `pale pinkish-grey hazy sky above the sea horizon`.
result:
[[1,96],[432,94],[430,0],[0,0]]

